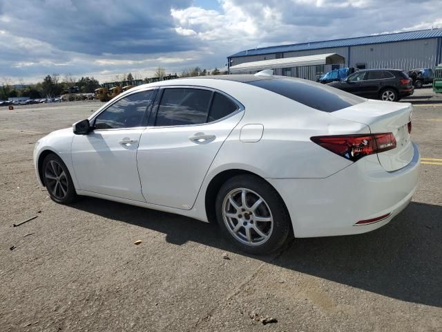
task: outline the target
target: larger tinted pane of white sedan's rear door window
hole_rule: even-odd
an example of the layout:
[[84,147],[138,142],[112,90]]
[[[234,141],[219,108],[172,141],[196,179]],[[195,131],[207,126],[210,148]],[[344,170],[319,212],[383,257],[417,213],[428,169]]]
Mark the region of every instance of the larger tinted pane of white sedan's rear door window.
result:
[[177,126],[206,122],[212,91],[203,89],[164,89],[155,126]]

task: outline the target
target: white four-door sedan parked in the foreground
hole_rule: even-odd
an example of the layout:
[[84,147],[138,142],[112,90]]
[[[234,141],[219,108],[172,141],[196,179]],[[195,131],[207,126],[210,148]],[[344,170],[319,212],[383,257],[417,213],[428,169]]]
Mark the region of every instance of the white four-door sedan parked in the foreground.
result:
[[294,237],[359,234],[412,199],[412,106],[296,78],[219,75],[137,86],[41,138],[41,185],[216,220],[254,254]]

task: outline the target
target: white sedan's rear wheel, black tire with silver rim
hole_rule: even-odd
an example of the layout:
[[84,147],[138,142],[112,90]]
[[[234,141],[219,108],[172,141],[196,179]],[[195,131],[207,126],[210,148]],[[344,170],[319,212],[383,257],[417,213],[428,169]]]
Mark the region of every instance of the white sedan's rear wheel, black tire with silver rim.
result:
[[291,234],[284,202],[278,192],[258,176],[230,178],[218,192],[215,209],[224,235],[240,250],[253,255],[278,250]]

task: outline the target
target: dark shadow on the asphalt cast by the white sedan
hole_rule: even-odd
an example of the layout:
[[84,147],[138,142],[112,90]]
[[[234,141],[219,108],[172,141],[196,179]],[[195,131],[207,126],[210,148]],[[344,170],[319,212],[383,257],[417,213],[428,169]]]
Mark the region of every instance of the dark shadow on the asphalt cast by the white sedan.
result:
[[[175,245],[194,241],[246,255],[222,239],[214,224],[101,199],[85,198],[73,208],[162,232]],[[410,203],[374,232],[295,239],[276,259],[255,258],[387,297],[442,307],[442,207]]]

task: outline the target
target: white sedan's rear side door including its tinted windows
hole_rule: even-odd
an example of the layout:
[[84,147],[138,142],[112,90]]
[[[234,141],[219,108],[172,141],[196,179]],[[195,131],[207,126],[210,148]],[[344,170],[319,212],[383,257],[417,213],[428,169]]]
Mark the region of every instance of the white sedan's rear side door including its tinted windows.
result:
[[142,193],[148,203],[189,210],[243,107],[200,87],[171,86],[160,93],[137,153]]

